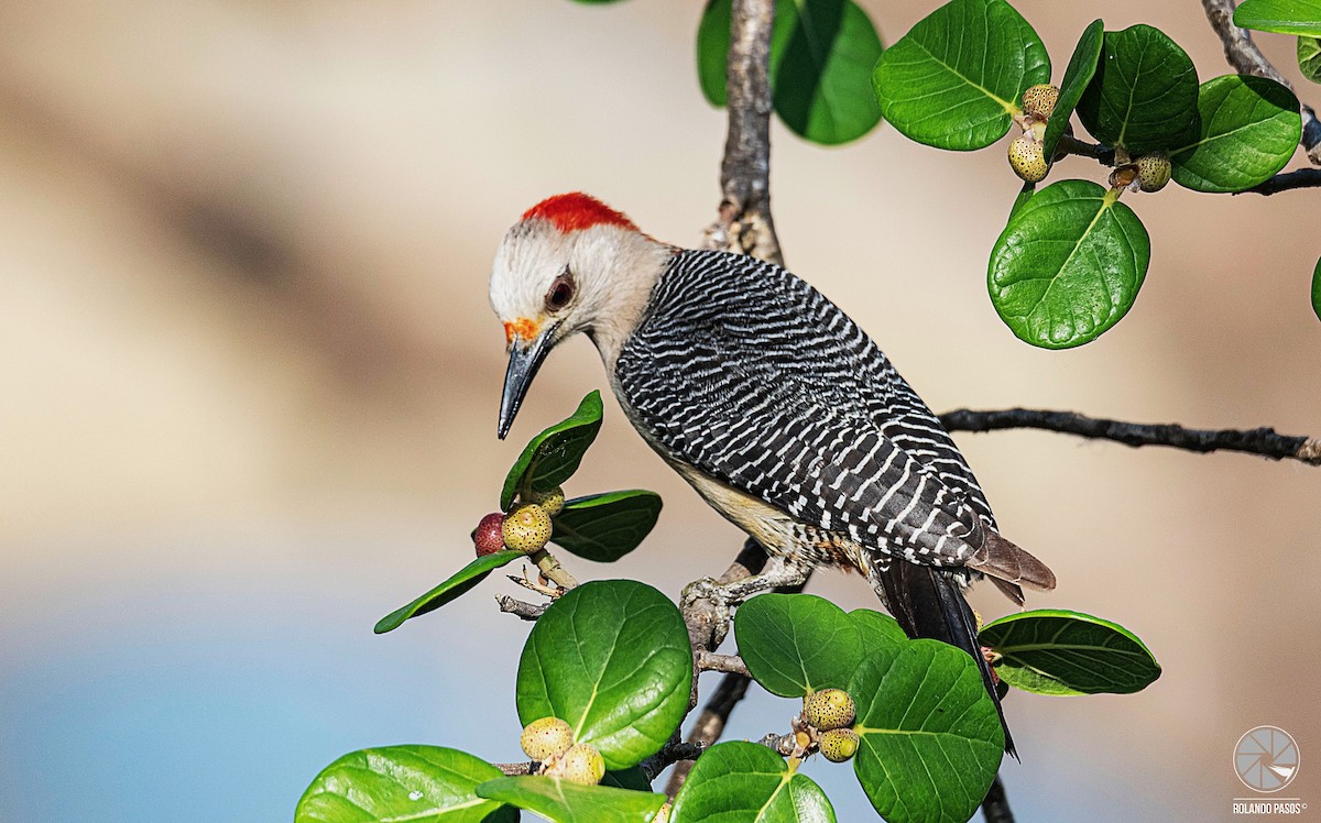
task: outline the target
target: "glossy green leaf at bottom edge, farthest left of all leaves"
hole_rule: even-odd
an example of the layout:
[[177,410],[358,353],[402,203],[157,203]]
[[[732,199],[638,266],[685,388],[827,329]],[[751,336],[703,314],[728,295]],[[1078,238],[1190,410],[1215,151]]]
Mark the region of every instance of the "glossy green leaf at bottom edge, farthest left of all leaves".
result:
[[509,823],[518,810],[485,801],[477,785],[501,775],[486,761],[440,746],[384,746],[345,754],[303,793],[295,823]]

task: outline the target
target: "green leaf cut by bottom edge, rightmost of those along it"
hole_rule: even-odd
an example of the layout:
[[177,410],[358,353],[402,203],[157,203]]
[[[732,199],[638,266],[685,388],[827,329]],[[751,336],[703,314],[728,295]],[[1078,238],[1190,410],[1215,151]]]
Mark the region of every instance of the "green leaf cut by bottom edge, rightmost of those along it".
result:
[[754,742],[711,746],[674,799],[672,823],[835,823],[826,793]]

